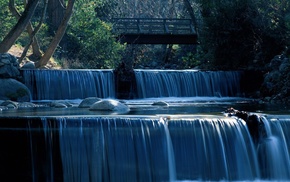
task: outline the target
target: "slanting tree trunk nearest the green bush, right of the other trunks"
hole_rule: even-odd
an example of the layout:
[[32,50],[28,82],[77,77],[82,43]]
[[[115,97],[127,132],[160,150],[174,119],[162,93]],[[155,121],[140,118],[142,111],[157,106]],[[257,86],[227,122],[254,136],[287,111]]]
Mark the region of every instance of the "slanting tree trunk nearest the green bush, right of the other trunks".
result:
[[73,13],[74,2],[75,2],[75,0],[69,0],[68,1],[68,5],[67,5],[67,8],[66,8],[65,15],[63,17],[63,20],[62,20],[60,26],[58,27],[58,30],[57,30],[55,36],[53,37],[53,40],[49,44],[49,47],[45,51],[45,53],[42,56],[42,58],[35,64],[35,66],[37,68],[45,66],[48,63],[48,61],[51,58],[51,56],[54,54],[55,49],[57,48],[59,42],[61,41],[61,39],[62,39],[62,37],[63,37],[63,35],[64,35],[65,31],[66,31],[69,19],[70,19],[72,13]]

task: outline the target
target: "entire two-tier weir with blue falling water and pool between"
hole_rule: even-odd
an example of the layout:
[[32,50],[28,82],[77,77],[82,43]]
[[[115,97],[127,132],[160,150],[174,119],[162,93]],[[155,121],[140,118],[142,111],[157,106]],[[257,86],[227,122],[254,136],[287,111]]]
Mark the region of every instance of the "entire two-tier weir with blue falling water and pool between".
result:
[[[34,101],[117,95],[112,70],[23,75]],[[251,106],[237,97],[242,72],[135,70],[135,76],[136,98],[122,100],[128,113],[75,106],[1,111],[0,181],[290,180],[289,114],[267,114],[255,102],[263,125],[253,135],[246,121],[222,113]],[[152,105],[156,100],[168,105]]]

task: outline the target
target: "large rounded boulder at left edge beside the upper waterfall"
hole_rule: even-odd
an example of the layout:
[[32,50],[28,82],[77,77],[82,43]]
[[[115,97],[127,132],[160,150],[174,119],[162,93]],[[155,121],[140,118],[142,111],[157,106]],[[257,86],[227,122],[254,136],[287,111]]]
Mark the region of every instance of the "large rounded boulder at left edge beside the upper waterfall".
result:
[[15,79],[7,78],[0,79],[0,85],[0,99],[18,102],[30,101],[30,91],[23,83]]

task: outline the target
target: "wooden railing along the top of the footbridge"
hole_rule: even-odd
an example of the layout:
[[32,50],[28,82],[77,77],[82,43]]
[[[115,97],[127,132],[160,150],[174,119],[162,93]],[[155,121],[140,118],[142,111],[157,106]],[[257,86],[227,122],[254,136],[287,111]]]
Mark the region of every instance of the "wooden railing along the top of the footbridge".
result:
[[116,34],[195,34],[191,19],[115,18]]

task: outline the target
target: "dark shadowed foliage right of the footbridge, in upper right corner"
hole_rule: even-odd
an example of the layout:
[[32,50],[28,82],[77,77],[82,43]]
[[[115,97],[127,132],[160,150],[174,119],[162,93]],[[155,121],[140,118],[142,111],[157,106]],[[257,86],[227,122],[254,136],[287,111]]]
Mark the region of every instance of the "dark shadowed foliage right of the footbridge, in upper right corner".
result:
[[[199,40],[206,56],[219,69],[257,66],[280,54],[289,42],[284,0],[202,0],[203,27]],[[286,24],[287,25],[287,24]]]

